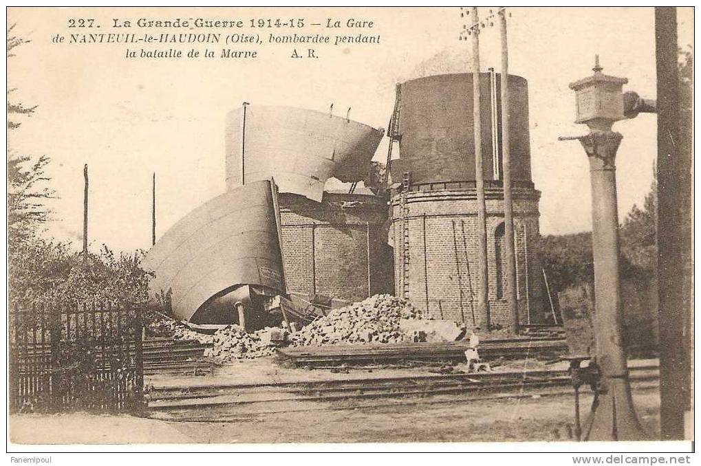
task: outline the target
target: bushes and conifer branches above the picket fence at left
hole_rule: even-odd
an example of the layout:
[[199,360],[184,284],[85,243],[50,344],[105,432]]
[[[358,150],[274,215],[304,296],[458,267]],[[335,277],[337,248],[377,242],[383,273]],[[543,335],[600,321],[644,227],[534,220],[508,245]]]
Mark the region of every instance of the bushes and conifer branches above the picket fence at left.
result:
[[[15,47],[27,43],[7,29],[7,56]],[[8,116],[32,116],[36,107],[10,102]],[[20,123],[10,121],[8,129]],[[116,256],[107,246],[99,254],[78,254],[66,243],[40,237],[41,226],[50,219],[45,201],[54,197],[48,186],[46,167],[50,159],[41,156],[32,160],[8,149],[7,221],[8,272],[11,301],[87,301],[92,299],[114,303],[142,303],[147,299],[150,273],[139,267],[143,253]]]

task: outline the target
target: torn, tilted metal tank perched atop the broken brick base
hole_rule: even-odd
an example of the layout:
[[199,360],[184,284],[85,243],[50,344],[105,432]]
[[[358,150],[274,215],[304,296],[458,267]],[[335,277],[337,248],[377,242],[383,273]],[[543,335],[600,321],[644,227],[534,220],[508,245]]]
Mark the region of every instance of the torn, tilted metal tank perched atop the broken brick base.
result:
[[226,188],[274,177],[280,192],[320,202],[330,177],[365,177],[382,135],[320,111],[247,105],[226,116]]

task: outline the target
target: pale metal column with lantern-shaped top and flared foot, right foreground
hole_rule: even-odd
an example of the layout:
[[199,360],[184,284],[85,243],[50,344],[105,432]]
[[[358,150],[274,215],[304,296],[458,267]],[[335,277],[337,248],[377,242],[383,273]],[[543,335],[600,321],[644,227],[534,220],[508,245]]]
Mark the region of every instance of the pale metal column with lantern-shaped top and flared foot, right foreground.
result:
[[626,118],[622,85],[626,78],[601,73],[599,56],[594,74],[570,84],[576,93],[575,123],[590,129],[578,139],[590,165],[592,186],[592,246],[594,249],[595,362],[600,388],[585,424],[585,440],[641,440],[647,436],[635,414],[621,338],[620,279],[618,276],[618,201],[615,156],[622,135],[611,131]]

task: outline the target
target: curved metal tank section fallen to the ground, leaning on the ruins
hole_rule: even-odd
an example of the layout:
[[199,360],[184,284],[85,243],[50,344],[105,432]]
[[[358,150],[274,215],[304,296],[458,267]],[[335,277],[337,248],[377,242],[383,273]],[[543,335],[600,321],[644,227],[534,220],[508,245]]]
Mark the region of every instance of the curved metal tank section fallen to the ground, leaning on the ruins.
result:
[[255,181],[196,208],[151,248],[149,294],[170,290],[172,311],[190,320],[212,296],[236,285],[285,292],[275,185]]

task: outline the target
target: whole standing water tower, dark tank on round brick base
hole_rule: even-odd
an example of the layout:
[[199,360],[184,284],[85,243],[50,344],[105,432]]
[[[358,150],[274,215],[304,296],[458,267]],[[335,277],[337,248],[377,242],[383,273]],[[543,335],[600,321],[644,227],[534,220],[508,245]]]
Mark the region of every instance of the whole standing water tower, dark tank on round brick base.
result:
[[[395,289],[435,318],[477,325],[478,247],[472,74],[428,76],[397,85],[388,136],[393,160],[389,242]],[[536,254],[540,192],[531,180],[528,83],[508,76],[516,284],[522,324],[545,322],[543,270]],[[486,203],[489,324],[508,327],[505,292],[501,85],[479,74]]]

